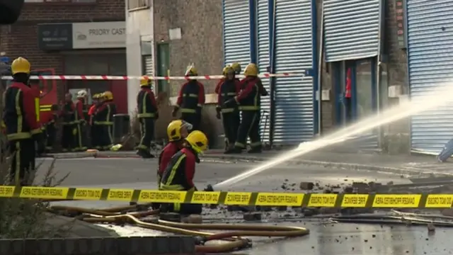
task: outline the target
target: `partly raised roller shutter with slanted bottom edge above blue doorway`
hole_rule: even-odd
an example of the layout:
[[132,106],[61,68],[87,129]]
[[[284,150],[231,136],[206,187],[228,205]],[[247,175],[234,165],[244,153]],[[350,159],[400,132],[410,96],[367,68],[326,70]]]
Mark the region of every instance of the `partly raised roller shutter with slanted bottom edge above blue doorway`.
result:
[[326,62],[375,57],[382,0],[324,0]]

